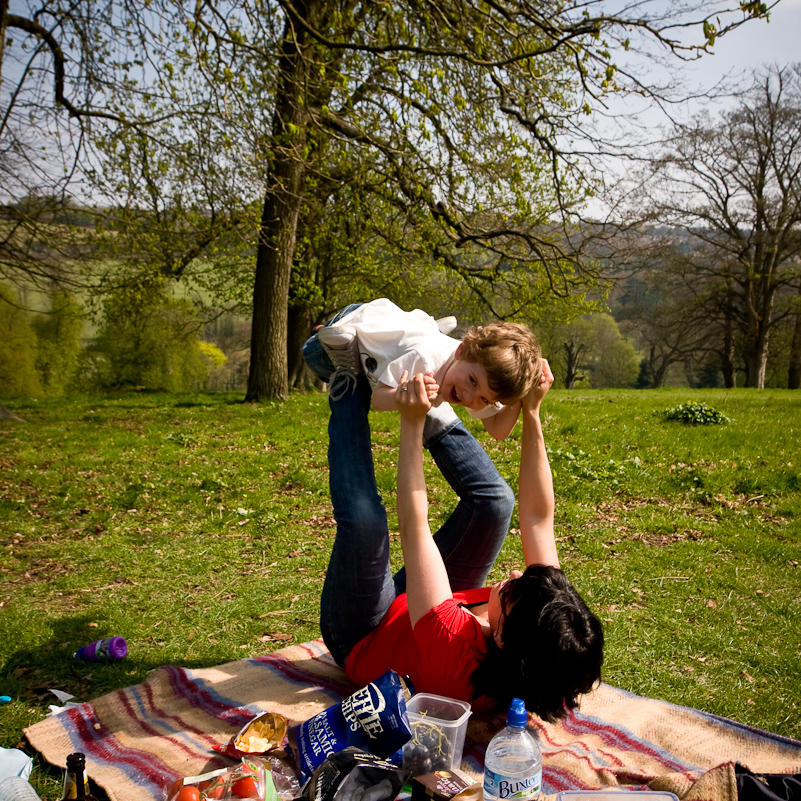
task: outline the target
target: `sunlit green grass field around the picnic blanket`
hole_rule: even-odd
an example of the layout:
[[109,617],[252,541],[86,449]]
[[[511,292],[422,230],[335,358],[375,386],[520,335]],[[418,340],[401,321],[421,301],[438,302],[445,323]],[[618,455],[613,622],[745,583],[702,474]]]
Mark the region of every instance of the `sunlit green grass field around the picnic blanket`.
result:
[[[240,399],[7,402],[26,422],[0,421],[0,746],[50,688],[86,701],[319,635],[325,396]],[[663,419],[688,400],[731,422]],[[801,739],[801,393],[552,390],[543,410],[560,553],[604,621],[604,679]],[[373,428],[392,528],[397,416]],[[516,487],[519,431],[478,436]],[[428,475],[444,519],[454,498]],[[496,575],[520,562],[510,537]],[[115,634],[123,662],[72,659]],[[58,797],[57,777],[34,784]]]

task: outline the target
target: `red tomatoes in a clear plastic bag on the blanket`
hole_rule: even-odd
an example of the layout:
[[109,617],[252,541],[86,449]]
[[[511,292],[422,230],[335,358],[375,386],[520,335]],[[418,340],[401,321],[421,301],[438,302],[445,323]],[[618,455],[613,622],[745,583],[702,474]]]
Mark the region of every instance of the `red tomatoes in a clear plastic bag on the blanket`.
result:
[[165,801],[278,801],[270,770],[260,759],[243,759],[232,768],[221,768],[200,776],[186,776],[173,783]]

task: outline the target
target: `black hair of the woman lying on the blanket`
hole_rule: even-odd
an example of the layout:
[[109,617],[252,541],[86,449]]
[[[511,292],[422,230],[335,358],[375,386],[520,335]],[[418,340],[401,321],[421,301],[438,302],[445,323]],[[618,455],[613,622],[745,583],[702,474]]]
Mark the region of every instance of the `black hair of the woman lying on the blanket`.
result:
[[578,706],[601,678],[601,622],[556,567],[531,565],[501,590],[503,647],[490,637],[473,671],[473,698],[505,709],[522,698],[551,723]]

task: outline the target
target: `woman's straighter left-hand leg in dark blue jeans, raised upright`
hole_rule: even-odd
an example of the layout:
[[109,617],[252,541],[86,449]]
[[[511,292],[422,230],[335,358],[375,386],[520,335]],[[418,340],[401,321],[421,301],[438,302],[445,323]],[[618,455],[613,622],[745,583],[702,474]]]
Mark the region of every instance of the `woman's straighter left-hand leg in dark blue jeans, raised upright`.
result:
[[370,384],[329,401],[328,465],[337,533],[320,601],[323,640],[338,664],[381,621],[396,590],[389,569],[387,514],[370,442]]

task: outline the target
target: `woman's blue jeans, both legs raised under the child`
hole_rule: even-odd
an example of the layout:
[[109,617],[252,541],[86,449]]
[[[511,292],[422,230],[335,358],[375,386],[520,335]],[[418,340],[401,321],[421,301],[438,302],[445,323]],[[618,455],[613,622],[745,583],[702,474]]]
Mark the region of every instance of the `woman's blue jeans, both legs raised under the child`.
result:
[[[370,384],[360,375],[353,393],[329,400],[329,486],[337,533],[320,601],[320,628],[343,666],[406,583],[403,569],[394,576],[390,571],[387,514],[370,442],[370,398]],[[486,451],[450,413],[455,421],[440,422],[426,442],[459,497],[434,540],[452,589],[466,590],[484,584],[509,529],[515,498]]]

